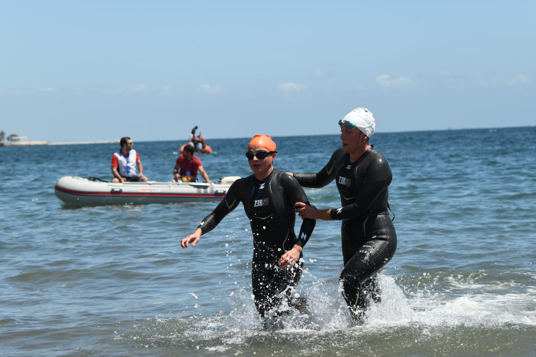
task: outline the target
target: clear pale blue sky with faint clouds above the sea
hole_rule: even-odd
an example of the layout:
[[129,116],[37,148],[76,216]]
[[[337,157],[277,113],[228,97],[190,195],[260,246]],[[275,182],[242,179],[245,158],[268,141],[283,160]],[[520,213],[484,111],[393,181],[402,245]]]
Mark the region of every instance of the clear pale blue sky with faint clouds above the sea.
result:
[[30,140],[526,126],[536,2],[0,1],[0,130]]

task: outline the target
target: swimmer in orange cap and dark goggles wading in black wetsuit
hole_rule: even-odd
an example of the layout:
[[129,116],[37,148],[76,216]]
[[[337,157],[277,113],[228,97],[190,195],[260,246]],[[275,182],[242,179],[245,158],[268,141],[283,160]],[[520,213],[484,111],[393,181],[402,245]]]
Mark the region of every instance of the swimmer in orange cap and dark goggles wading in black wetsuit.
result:
[[273,168],[276,153],[276,143],[269,135],[255,135],[245,154],[253,174],[236,180],[211,214],[181,240],[182,248],[188,248],[189,244],[196,246],[202,234],[214,229],[242,202],[253,234],[251,283],[255,306],[266,318],[278,315],[277,308],[284,300],[289,306],[303,307],[304,302],[294,300],[291,294],[302,274],[303,246],[316,224],[314,219],[303,219],[296,236],[294,206],[309,201],[294,178]]

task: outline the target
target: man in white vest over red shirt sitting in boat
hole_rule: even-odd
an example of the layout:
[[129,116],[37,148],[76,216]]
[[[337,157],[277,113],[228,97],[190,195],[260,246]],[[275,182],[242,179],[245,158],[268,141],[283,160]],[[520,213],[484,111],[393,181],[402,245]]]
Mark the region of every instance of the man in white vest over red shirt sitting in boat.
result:
[[[142,161],[136,150],[132,148],[134,145],[132,140],[128,136],[125,136],[121,138],[119,144],[121,145],[121,150],[114,153],[114,156],[111,157],[111,173],[114,175],[111,181],[113,183],[147,181],[147,176],[143,176]],[[138,168],[139,175],[136,174],[136,167]]]

